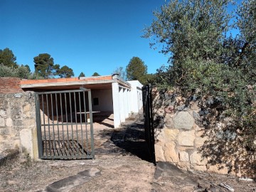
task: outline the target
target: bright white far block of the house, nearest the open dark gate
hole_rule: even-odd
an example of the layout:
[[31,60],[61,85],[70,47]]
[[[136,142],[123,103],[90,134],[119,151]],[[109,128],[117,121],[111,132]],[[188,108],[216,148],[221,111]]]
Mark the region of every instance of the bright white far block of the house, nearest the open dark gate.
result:
[[130,92],[130,111],[137,113],[142,109],[142,83],[138,80],[129,80],[127,81],[131,84],[132,89]]

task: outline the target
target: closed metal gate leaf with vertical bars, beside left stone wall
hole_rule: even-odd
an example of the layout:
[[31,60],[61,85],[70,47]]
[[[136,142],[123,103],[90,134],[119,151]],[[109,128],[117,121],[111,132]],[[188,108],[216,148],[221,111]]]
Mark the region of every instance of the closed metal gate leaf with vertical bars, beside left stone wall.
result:
[[94,159],[91,91],[36,92],[40,159]]

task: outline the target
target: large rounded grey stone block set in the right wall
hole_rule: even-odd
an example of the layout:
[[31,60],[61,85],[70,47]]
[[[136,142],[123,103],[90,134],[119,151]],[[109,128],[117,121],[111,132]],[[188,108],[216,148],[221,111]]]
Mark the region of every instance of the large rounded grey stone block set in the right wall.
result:
[[189,112],[178,112],[176,116],[173,118],[174,120],[174,127],[176,129],[192,129],[195,120],[191,117]]

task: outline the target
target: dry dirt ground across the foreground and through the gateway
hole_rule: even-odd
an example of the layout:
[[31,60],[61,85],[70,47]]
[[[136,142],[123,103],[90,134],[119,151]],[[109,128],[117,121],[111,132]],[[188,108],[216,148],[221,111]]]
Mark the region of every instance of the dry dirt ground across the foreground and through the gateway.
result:
[[196,183],[193,190],[181,187],[183,181],[175,176],[154,178],[156,166],[150,162],[144,142],[142,114],[128,119],[119,129],[96,129],[95,154],[95,159],[70,161],[31,161],[21,154],[0,167],[0,191],[43,191],[50,183],[90,168],[99,169],[100,175],[70,191],[228,191],[220,183],[235,191],[256,191],[254,181],[199,171],[184,172]]

